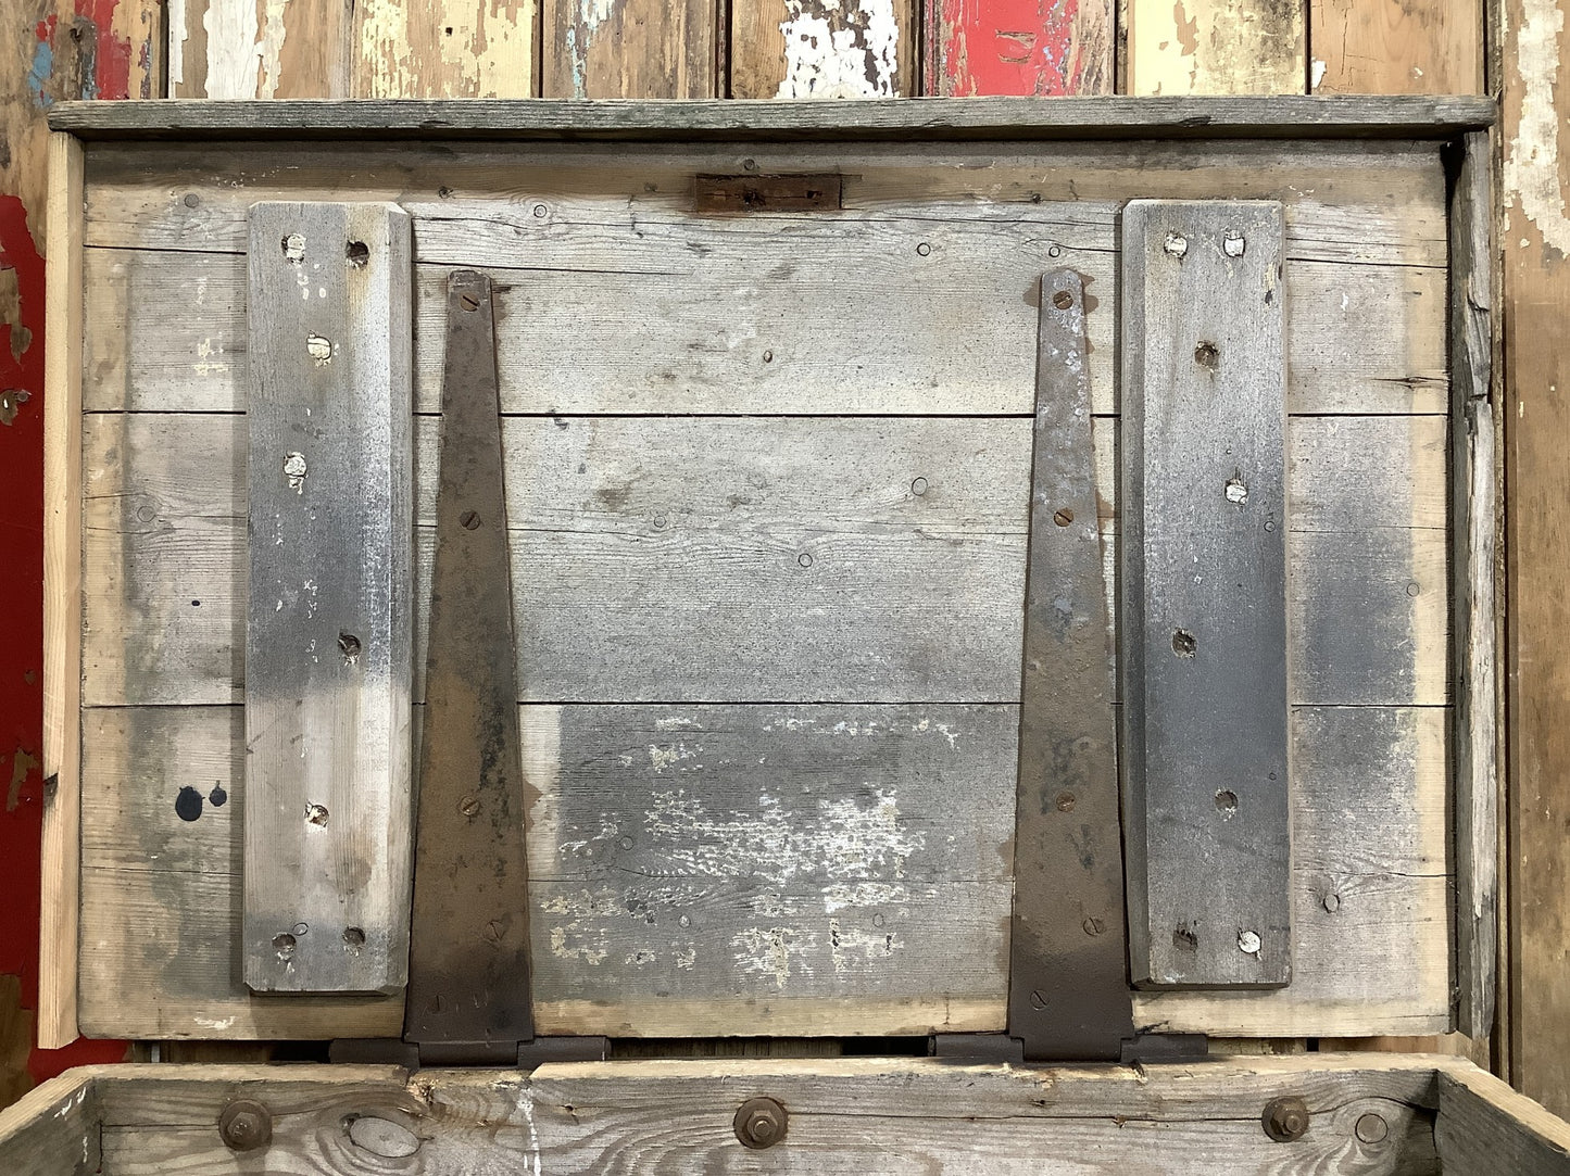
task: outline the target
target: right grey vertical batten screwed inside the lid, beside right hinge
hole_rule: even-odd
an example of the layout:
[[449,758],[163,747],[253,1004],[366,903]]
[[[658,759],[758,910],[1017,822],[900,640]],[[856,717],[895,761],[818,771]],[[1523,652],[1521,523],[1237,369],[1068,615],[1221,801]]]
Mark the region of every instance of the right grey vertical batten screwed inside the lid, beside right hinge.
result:
[[1123,236],[1130,972],[1284,986],[1283,209],[1132,201]]

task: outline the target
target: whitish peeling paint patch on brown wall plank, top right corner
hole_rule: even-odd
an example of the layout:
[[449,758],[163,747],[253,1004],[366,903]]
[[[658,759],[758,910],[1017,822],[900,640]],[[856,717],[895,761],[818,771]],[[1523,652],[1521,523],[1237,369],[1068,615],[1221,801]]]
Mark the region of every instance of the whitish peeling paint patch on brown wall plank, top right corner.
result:
[[1557,0],[1521,0],[1521,28],[1515,38],[1521,118],[1504,152],[1504,206],[1520,207],[1537,225],[1545,245],[1570,254],[1570,218],[1565,217],[1559,187],[1559,116],[1554,110],[1564,24]]

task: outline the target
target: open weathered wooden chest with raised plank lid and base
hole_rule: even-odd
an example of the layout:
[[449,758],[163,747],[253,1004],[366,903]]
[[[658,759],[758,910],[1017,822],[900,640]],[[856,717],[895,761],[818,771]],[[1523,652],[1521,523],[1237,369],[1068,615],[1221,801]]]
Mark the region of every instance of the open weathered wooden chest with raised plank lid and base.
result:
[[[405,1032],[446,341],[479,281],[524,1003],[609,1060],[99,1071],[6,1146],[38,1171],[75,1140],[104,1171],[1561,1170],[1564,1129],[1462,1063],[1152,1060],[1492,1025],[1492,116],[68,104],[46,1041]],[[364,465],[339,482],[338,425],[287,416],[319,385],[322,413],[392,405],[341,430]],[[347,546],[292,568],[297,504],[350,512]],[[1050,546],[1074,535],[1094,598]],[[317,619],[372,572],[371,630]],[[264,711],[323,656],[377,692]],[[345,691],[349,727],[312,729]],[[1085,716],[1116,722],[1121,796]],[[1116,1050],[1052,1019],[1107,959],[1157,1052],[1088,1068]],[[220,1137],[237,1097],[265,1151]],[[741,1146],[752,1097],[785,1141]]]

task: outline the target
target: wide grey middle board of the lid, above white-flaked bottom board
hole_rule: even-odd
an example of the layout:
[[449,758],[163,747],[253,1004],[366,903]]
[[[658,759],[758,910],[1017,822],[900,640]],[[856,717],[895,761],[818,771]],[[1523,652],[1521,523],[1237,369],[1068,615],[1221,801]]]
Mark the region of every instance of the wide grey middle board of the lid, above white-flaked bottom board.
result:
[[[435,429],[414,440],[416,697]],[[88,705],[240,700],[242,435],[88,418]],[[1094,435],[1112,531],[1115,424]],[[1292,700],[1448,702],[1444,419],[1289,435]],[[529,700],[1017,700],[1028,418],[509,418],[504,444]]]

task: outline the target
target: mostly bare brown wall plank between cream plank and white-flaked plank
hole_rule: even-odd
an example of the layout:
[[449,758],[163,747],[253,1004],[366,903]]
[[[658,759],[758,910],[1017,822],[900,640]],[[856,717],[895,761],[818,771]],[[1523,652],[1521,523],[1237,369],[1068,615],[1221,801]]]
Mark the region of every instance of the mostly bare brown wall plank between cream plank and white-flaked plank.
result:
[[719,97],[721,11],[716,0],[543,0],[540,93],[575,110],[578,99]]

